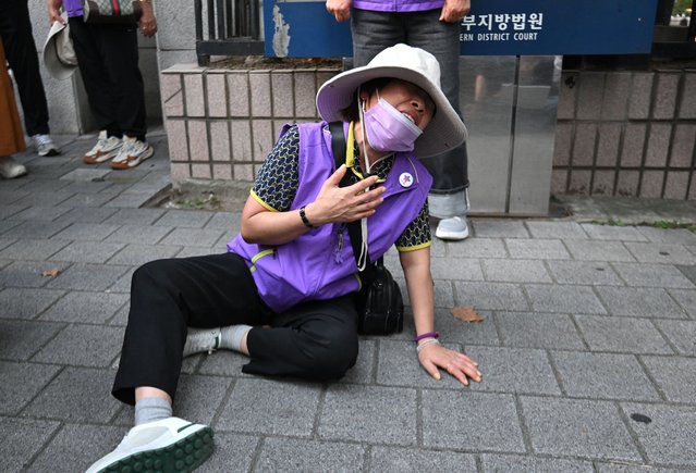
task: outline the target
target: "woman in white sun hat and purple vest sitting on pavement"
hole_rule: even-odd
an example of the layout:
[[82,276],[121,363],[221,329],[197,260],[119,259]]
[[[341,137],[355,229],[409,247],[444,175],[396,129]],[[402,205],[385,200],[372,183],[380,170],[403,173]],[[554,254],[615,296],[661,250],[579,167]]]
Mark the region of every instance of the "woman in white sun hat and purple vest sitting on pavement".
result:
[[[231,349],[249,357],[245,373],[343,376],[357,358],[359,283],[352,245],[342,242],[346,223],[361,219],[371,261],[394,244],[400,251],[423,368],[435,378],[443,369],[463,384],[480,381],[477,363],[434,332],[431,177],[415,157],[466,136],[440,90],[437,60],[405,45],[388,48],[328,80],[317,107],[325,122],[283,128],[227,253],[154,261],[133,274],[112,394],[135,403],[136,425],[89,473],[136,471],[136,463],[188,471],[209,457],[210,427],[172,416],[185,356]],[[334,121],[344,122],[349,144],[338,170],[327,124]],[[340,187],[346,172],[353,184]]]

